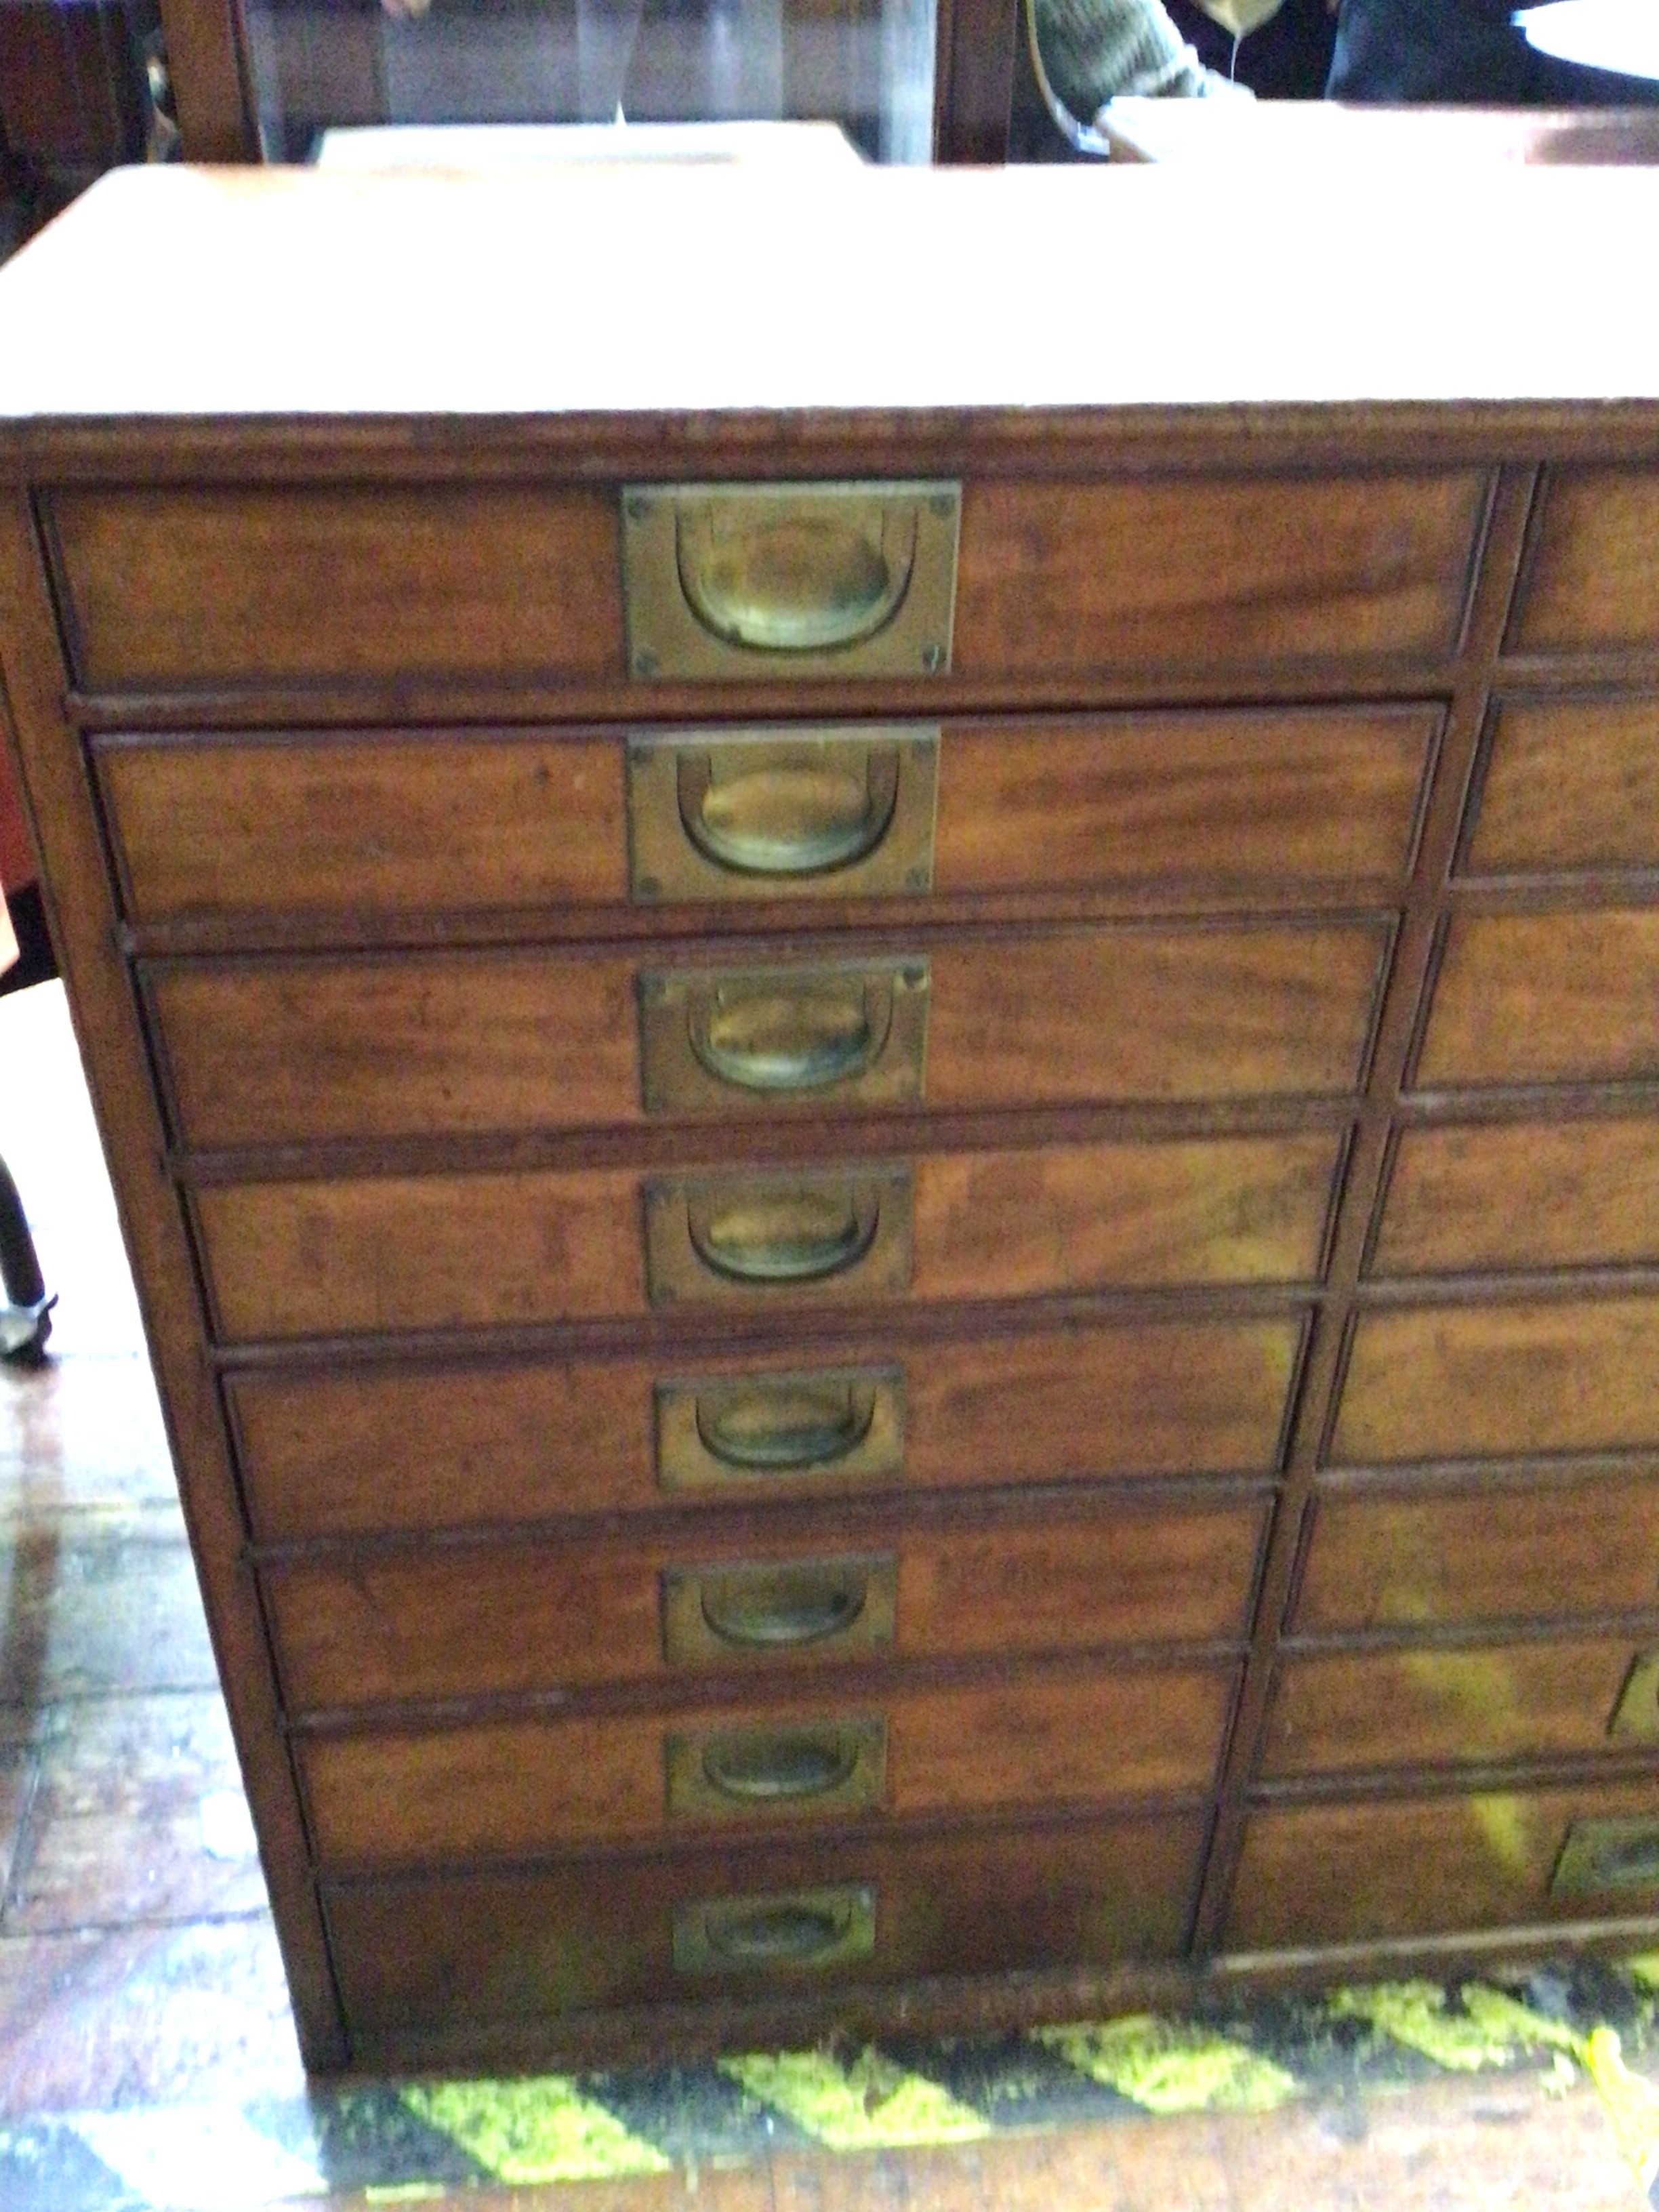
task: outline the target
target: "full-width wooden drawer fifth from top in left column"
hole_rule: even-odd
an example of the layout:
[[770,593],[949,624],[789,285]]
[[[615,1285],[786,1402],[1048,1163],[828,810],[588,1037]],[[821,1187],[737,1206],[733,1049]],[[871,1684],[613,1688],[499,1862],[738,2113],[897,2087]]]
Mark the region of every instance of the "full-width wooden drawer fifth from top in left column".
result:
[[[228,1396],[254,1528],[281,1542],[666,1495],[1270,1475],[1298,1345],[1296,1316],[1181,1321],[701,1369],[633,1358],[250,1371]],[[869,1449],[878,1422],[885,1453]]]

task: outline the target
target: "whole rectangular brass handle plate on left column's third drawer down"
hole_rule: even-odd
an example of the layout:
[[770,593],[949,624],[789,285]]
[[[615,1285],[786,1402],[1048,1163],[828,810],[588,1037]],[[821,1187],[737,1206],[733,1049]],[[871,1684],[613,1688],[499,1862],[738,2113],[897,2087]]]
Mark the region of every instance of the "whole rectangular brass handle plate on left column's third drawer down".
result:
[[646,1113],[814,1113],[907,1106],[927,1064],[927,960],[646,969]]

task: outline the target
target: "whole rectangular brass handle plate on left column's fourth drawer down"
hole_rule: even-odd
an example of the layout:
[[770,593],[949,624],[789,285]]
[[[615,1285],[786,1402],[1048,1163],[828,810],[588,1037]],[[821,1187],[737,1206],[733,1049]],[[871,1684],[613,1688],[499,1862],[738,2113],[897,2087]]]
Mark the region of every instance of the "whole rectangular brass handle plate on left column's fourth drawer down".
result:
[[902,1296],[914,1177],[902,1164],[646,1183],[653,1305]]

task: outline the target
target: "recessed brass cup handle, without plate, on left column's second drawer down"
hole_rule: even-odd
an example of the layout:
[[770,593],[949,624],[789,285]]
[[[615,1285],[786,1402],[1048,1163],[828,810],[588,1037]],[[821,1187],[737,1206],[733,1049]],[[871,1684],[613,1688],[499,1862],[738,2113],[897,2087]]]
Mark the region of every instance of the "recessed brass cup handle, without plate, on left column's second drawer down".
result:
[[739,876],[821,876],[865,860],[898,805],[898,745],[728,745],[677,759],[679,821]]

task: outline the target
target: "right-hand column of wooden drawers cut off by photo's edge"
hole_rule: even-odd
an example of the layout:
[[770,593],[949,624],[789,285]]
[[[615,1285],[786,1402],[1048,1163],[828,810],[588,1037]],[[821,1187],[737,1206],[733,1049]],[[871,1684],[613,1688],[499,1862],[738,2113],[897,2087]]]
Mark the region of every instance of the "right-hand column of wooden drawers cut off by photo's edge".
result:
[[[1650,588],[1635,622],[1610,611],[1595,557],[1628,493],[1593,484],[1546,493],[1517,653],[1659,635]],[[1241,1949],[1652,1909],[1655,763],[1644,684],[1500,688],[1489,714],[1411,1062],[1427,1110],[1394,1139],[1303,1531]]]

